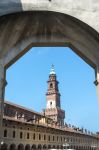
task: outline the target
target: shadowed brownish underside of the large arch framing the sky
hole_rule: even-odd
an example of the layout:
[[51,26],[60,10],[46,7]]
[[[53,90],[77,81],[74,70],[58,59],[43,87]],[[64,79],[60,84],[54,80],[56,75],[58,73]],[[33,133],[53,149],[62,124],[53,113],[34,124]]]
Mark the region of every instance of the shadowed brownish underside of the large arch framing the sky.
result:
[[0,59],[9,67],[33,46],[69,46],[95,68],[98,33],[65,14],[33,11],[0,17]]

